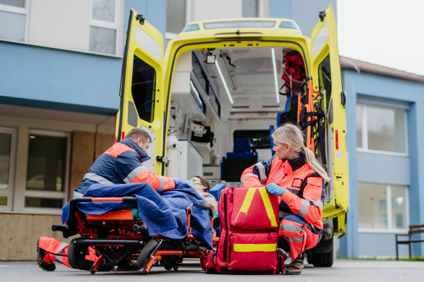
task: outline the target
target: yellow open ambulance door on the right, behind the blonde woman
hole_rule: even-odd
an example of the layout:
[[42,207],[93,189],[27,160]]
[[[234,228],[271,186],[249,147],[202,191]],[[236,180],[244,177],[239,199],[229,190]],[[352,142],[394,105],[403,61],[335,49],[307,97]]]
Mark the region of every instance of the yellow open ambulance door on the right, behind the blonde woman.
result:
[[[312,78],[315,90],[324,92],[321,99],[326,113],[327,187],[322,219],[331,219],[348,210],[348,165],[346,155],[346,92],[341,85],[337,29],[331,4],[319,13],[320,20],[312,30]],[[332,146],[331,146],[332,144]],[[341,216],[343,219],[345,216]],[[338,229],[341,228],[341,224]],[[344,224],[343,224],[344,228]]]

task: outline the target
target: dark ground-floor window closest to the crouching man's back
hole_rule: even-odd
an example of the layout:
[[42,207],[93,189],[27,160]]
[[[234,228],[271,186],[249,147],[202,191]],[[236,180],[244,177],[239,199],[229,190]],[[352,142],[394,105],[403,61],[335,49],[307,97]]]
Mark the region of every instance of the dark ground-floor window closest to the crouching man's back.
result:
[[69,133],[29,133],[25,209],[61,209],[68,191]]

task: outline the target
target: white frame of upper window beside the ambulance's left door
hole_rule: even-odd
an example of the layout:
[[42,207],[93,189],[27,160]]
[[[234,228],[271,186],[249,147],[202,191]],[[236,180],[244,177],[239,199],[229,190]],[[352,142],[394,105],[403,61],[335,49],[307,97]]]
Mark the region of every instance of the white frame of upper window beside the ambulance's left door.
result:
[[[119,54],[121,53],[120,51],[120,46],[121,46],[121,42],[120,42],[120,30],[121,28],[119,28],[120,25],[120,20],[121,20],[121,0],[114,0],[114,22],[108,22],[105,20],[94,20],[93,19],[93,0],[90,1],[90,27],[100,27],[100,28],[105,28],[107,30],[115,30],[116,31],[116,38],[115,38],[115,54],[107,54],[107,53],[100,53],[100,52],[95,52],[95,51],[90,51],[90,37],[91,35],[88,36],[88,51],[91,53],[96,53],[96,54],[107,54],[107,55],[114,55],[114,56],[119,56]],[[90,33],[90,32],[89,32]]]

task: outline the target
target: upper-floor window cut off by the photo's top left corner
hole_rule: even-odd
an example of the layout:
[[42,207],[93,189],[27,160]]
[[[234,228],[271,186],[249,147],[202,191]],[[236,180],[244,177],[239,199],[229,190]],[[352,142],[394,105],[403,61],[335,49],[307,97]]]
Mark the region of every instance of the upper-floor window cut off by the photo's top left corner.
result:
[[0,39],[25,42],[30,0],[0,0]]

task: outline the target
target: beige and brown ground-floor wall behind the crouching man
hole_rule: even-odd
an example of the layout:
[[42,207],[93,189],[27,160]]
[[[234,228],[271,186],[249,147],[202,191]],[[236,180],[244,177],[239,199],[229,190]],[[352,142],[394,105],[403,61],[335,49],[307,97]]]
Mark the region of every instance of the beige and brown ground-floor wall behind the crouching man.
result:
[[[4,105],[0,107],[0,111],[8,113],[4,109]],[[18,117],[21,111],[25,111],[23,107],[13,107],[15,116],[0,116],[0,126],[18,129],[18,144],[16,154],[16,171],[14,175],[13,187],[13,211],[0,212],[0,260],[35,260],[37,252],[35,246],[38,238],[41,236],[56,238],[69,243],[65,240],[61,232],[52,232],[52,224],[61,224],[60,214],[28,214],[25,212],[25,180],[28,161],[28,130],[42,129],[54,130],[71,133],[71,165],[69,175],[68,200],[72,197],[73,189],[77,188],[81,183],[84,174],[93,164],[98,154],[105,152],[107,148],[114,143],[114,127],[102,125],[98,122],[105,121],[105,116],[94,116],[87,114],[67,114],[61,112],[58,116],[57,111],[27,109],[26,117]],[[30,114],[44,116],[57,116],[57,120],[41,119],[31,117]],[[74,120],[61,121],[61,119]],[[97,126],[90,123],[76,122],[79,118],[82,120],[99,123]],[[106,116],[107,118],[107,116]],[[98,133],[95,131],[98,130]]]

